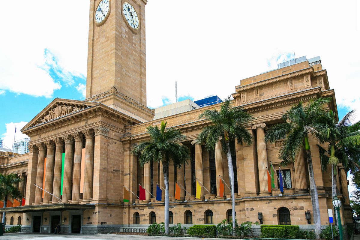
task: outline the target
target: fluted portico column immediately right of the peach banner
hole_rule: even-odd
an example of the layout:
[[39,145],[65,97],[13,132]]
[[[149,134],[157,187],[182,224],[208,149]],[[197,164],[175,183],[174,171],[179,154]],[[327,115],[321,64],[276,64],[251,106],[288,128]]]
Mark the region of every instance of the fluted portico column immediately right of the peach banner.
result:
[[85,135],[85,167],[84,167],[84,194],[81,203],[90,203],[93,195],[94,172],[94,132],[91,129],[82,131]]

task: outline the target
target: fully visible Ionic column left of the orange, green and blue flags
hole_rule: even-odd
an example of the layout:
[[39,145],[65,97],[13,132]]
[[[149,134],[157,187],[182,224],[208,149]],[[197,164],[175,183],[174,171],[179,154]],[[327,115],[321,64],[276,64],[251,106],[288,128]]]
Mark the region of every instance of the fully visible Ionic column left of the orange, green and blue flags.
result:
[[258,123],[252,126],[252,129],[256,130],[256,141],[257,141],[257,163],[259,169],[259,184],[260,194],[269,196],[268,185],[267,185],[267,153],[266,153],[266,142],[265,142],[265,123]]

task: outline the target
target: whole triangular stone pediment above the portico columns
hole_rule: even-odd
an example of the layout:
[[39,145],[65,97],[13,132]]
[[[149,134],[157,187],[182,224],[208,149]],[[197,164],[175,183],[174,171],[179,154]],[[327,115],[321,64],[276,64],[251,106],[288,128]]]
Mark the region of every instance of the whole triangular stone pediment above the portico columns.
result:
[[99,103],[91,101],[80,101],[71,99],[55,98],[42,111],[36,115],[21,131],[38,125],[55,121],[56,119],[66,117],[89,107],[99,105]]

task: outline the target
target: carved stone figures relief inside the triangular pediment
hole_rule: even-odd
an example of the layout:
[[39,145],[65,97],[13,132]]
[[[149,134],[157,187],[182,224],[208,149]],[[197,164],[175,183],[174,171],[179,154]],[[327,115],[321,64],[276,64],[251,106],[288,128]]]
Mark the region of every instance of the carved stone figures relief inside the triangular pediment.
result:
[[85,108],[87,108],[87,106],[84,107],[84,106],[78,106],[75,104],[62,104],[62,105],[57,104],[56,106],[54,106],[54,108],[51,108],[47,114],[45,113],[43,116],[41,116],[39,122],[37,122],[33,126],[37,126],[41,123],[48,122],[55,118],[63,117],[68,114],[78,112]]

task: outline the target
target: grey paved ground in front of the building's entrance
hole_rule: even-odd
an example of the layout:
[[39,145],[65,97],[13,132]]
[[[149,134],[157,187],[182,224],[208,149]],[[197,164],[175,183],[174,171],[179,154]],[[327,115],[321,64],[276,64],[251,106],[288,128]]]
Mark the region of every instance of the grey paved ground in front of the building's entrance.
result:
[[[202,238],[196,237],[158,237],[158,236],[135,236],[135,235],[114,235],[114,234],[92,234],[92,235],[82,235],[82,234],[39,234],[39,233],[12,233],[12,234],[4,234],[4,236],[0,236],[0,240],[200,240]],[[221,240],[215,238],[206,238],[206,240]],[[354,239],[354,240],[360,240]]]

